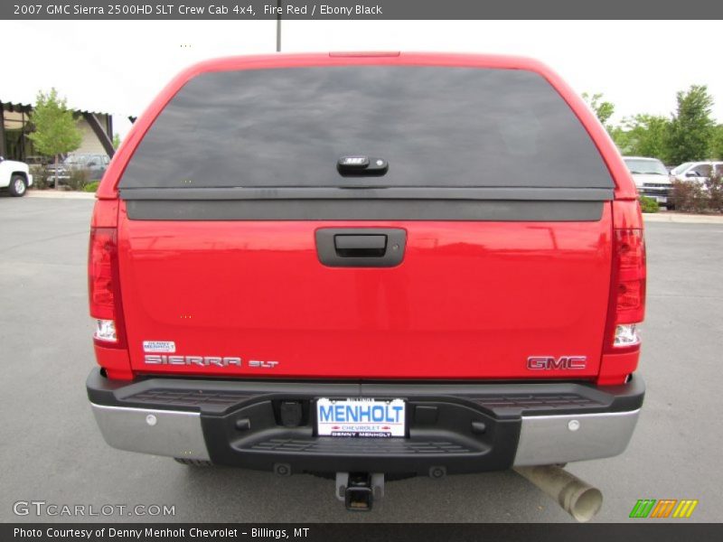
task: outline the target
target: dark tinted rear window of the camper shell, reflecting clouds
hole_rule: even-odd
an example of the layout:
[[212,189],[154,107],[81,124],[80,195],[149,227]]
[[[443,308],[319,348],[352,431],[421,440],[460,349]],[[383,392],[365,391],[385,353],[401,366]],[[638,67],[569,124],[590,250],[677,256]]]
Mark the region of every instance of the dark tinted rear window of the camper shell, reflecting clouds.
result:
[[[347,178],[343,155],[389,163]],[[136,149],[121,188],[586,187],[613,182],[586,130],[521,70],[349,66],[205,73]]]

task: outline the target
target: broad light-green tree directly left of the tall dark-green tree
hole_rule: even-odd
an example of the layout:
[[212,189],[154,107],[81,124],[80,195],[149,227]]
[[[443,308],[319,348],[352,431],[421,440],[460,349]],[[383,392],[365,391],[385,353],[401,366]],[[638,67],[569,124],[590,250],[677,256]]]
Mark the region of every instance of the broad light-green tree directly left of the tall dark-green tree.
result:
[[671,120],[655,115],[635,115],[624,118],[613,134],[620,152],[634,156],[652,156],[670,163],[668,145]]

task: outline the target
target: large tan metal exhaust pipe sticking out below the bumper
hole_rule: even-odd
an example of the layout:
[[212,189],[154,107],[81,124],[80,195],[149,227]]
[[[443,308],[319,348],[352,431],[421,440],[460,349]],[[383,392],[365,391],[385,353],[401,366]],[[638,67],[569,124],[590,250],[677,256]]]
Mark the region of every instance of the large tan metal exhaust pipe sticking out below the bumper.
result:
[[595,518],[603,507],[602,491],[558,466],[515,467],[514,471],[531,481],[581,523]]

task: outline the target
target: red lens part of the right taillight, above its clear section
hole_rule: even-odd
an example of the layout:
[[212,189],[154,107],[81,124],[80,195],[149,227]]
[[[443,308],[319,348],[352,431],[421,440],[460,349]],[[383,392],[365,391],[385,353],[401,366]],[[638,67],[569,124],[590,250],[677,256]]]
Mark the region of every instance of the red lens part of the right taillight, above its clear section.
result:
[[617,299],[615,323],[643,322],[645,316],[645,240],[642,229],[615,230]]

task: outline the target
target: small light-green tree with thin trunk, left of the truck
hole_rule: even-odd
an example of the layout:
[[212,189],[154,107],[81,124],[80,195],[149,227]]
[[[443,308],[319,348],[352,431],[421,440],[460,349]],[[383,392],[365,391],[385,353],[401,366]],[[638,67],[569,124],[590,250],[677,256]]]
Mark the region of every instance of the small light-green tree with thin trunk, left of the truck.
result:
[[38,92],[30,117],[34,131],[29,135],[38,152],[55,157],[54,185],[58,188],[58,161],[60,154],[70,153],[80,146],[82,135],[78,121],[73,118],[65,98],[51,89],[48,94]]

